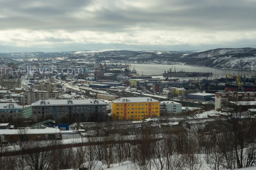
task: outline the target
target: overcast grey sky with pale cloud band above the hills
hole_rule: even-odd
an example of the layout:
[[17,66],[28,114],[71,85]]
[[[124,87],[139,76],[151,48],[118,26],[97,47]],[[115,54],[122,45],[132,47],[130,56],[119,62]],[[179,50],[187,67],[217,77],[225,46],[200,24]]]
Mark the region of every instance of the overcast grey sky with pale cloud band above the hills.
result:
[[256,48],[256,0],[0,0],[0,52]]

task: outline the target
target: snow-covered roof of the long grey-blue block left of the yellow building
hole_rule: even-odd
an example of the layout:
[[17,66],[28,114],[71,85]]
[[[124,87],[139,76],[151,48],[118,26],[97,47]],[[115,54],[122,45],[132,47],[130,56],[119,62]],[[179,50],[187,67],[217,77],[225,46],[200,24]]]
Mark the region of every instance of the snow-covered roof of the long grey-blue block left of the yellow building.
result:
[[48,99],[32,103],[32,106],[41,105],[106,105],[99,99]]

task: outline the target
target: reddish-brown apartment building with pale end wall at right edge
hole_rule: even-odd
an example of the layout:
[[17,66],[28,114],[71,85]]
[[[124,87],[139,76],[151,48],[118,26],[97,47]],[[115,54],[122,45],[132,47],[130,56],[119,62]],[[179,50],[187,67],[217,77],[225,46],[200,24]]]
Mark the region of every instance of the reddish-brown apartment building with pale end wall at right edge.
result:
[[227,106],[231,101],[256,101],[256,92],[216,92],[215,110]]

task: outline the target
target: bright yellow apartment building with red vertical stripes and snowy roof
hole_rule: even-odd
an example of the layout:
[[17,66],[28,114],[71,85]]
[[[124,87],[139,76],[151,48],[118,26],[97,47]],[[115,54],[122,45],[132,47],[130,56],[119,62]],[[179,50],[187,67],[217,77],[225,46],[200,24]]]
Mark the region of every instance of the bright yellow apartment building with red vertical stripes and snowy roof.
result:
[[122,97],[112,101],[112,120],[140,121],[160,116],[160,102],[150,97]]

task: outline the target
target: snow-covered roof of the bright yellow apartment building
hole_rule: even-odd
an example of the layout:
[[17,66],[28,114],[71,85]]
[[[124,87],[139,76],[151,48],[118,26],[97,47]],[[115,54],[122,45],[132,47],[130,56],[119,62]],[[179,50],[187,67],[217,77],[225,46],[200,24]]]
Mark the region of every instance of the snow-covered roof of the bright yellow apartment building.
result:
[[112,101],[113,103],[150,103],[159,102],[150,97],[122,97]]

